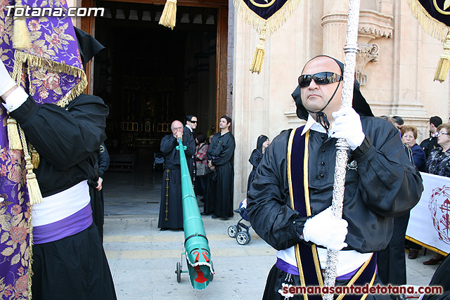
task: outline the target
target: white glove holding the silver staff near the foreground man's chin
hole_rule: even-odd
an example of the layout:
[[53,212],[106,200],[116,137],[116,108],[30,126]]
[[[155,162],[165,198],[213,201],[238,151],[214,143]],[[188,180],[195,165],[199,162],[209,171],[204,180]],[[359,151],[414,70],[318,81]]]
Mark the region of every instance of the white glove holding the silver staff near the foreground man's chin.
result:
[[358,148],[366,137],[359,115],[352,107],[341,108],[331,115],[335,118],[335,121],[331,124],[331,137],[345,138],[350,145],[350,149]]

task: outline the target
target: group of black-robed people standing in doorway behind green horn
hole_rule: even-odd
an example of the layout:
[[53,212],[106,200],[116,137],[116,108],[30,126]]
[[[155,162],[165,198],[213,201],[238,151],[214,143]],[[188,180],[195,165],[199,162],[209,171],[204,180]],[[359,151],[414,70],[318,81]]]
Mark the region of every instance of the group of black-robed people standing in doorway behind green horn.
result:
[[165,171],[162,178],[160,216],[161,230],[183,229],[181,204],[181,166],[176,145],[181,139],[194,190],[203,196],[202,215],[213,219],[229,219],[233,216],[233,154],[236,148],[231,134],[231,118],[220,118],[220,131],[206,141],[205,133],[195,133],[197,117],[188,115],[185,125],[172,122],[172,133],[161,141],[160,150],[165,155]]

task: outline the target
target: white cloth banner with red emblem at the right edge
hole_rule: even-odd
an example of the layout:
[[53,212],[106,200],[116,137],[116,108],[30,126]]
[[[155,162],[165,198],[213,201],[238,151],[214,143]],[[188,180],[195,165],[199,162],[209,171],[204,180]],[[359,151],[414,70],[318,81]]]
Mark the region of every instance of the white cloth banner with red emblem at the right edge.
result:
[[406,235],[450,253],[450,178],[420,172],[423,193],[411,209]]

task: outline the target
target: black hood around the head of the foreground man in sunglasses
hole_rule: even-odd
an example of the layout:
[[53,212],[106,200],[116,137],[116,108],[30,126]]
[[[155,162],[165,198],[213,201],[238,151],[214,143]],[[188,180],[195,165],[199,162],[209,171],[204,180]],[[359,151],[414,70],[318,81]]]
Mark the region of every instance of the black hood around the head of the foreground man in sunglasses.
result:
[[[318,57],[319,56],[316,56],[315,58],[318,58]],[[339,65],[340,71],[342,72],[341,74],[344,74],[344,64],[343,63],[341,63],[339,60],[332,58],[330,56],[326,56],[326,57],[333,59]],[[314,60],[314,58],[311,58],[311,60]],[[308,63],[311,60],[309,60]],[[297,105],[297,117],[299,117],[300,119],[307,120],[309,114],[308,114],[306,108],[304,108],[303,103],[302,103],[302,96],[300,94],[300,86],[297,86],[297,88],[293,92],[292,96],[295,100],[295,105]],[[356,80],[356,77],[354,79],[354,86],[353,86],[352,107],[360,116],[373,117],[371,107],[368,106],[366,99],[362,96],[361,91],[359,90],[359,82]]]

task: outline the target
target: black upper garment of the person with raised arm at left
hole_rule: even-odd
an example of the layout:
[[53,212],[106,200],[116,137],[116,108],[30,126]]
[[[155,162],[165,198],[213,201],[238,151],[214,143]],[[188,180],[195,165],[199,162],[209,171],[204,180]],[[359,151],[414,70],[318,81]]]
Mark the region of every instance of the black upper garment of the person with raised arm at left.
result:
[[96,177],[98,148],[105,141],[108,107],[82,94],[66,107],[37,105],[30,97],[10,114],[39,153],[34,173],[43,197]]

